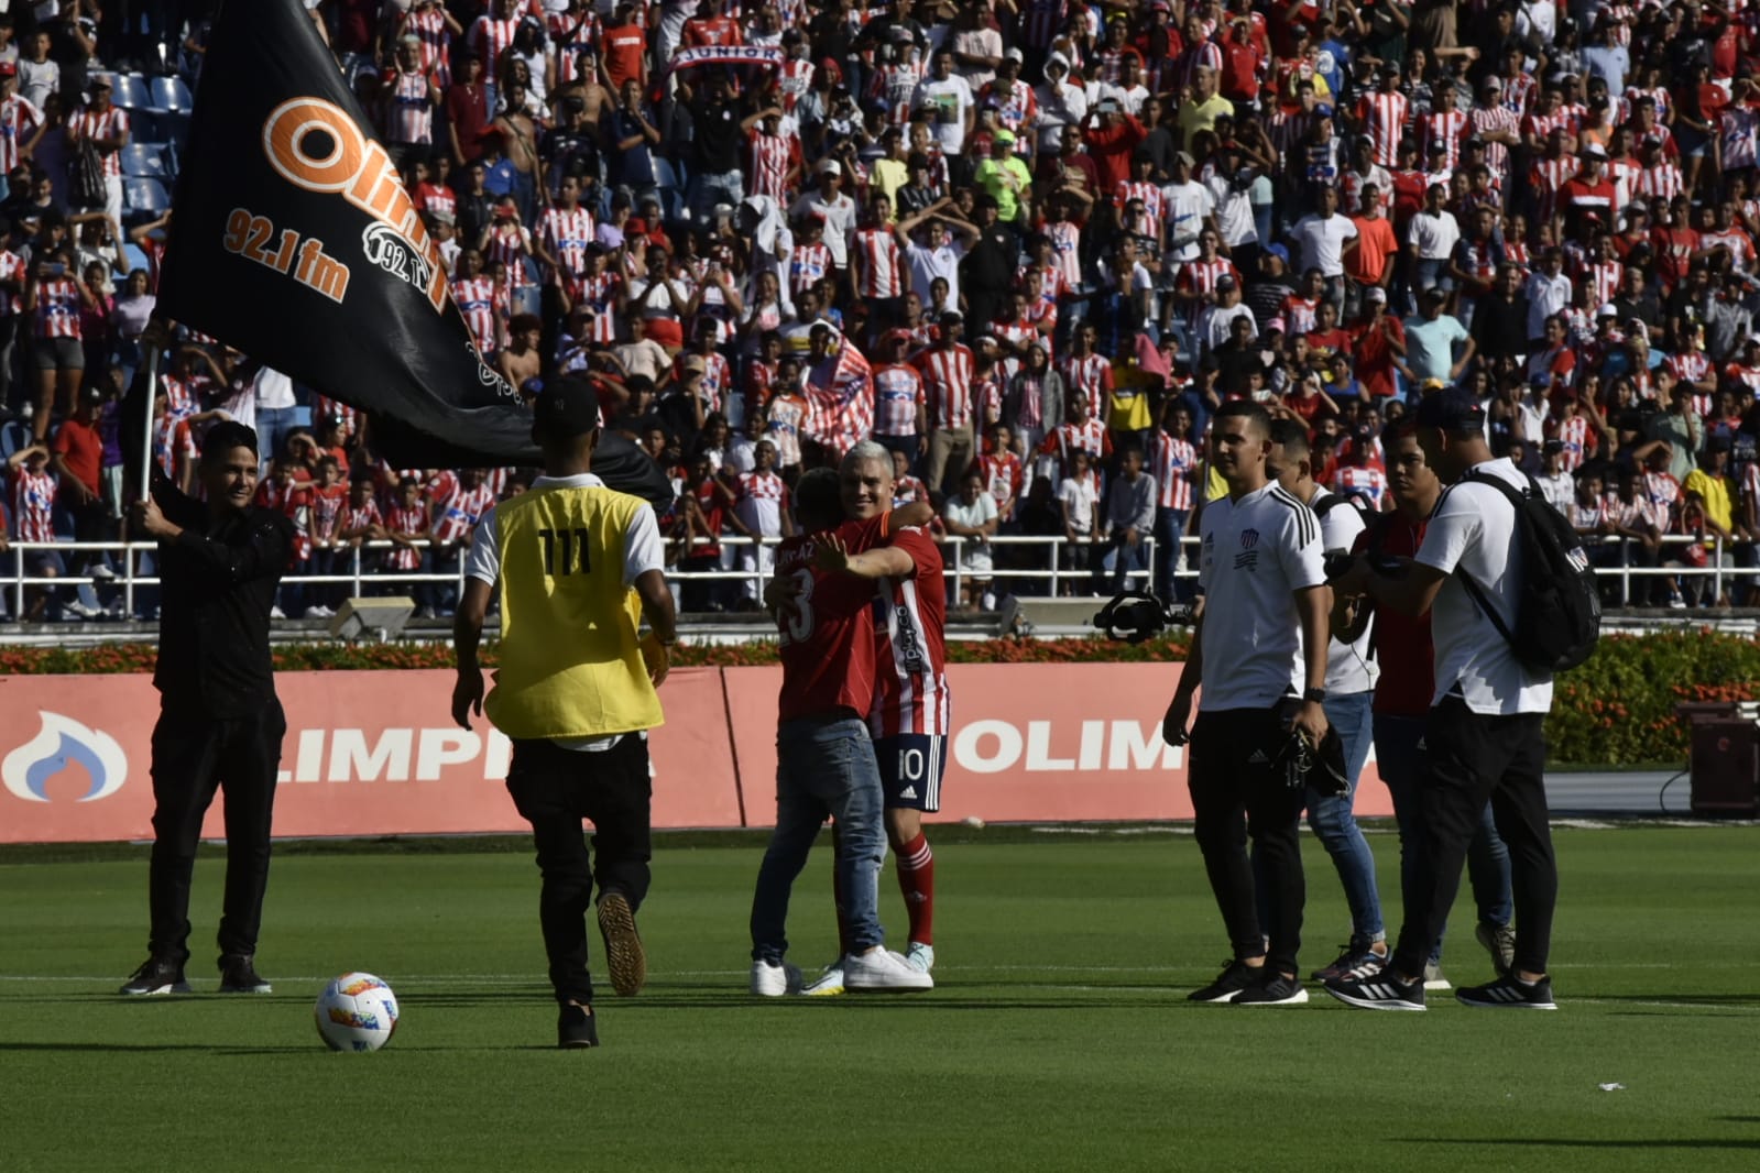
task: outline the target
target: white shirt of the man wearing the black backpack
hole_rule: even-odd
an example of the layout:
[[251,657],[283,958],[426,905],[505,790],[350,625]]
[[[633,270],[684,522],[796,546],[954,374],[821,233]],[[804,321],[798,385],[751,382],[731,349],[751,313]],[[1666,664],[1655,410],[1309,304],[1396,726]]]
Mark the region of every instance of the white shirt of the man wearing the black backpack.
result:
[[[1528,487],[1528,478],[1508,459],[1485,461],[1471,471]],[[1468,709],[1484,716],[1552,709],[1551,674],[1522,667],[1508,640],[1461,586],[1461,575],[1471,575],[1505,626],[1515,630],[1522,557],[1508,498],[1471,480],[1450,485],[1431,514],[1417,561],[1448,575],[1431,608],[1431,642],[1436,645],[1431,705],[1459,693]]]

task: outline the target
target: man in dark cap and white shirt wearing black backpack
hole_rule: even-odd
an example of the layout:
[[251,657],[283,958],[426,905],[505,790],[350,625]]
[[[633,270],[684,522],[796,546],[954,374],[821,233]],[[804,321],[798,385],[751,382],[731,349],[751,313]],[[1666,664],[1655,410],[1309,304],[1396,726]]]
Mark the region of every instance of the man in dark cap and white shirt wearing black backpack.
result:
[[[1558,865],[1545,805],[1544,721],[1552,677],[1517,659],[1500,626],[1515,626],[1522,543],[1515,505],[1491,482],[1515,492],[1533,484],[1508,459],[1492,459],[1485,413],[1466,389],[1422,399],[1419,445],[1443,482],[1417,557],[1383,575],[1359,557],[1334,579],[1346,596],[1369,596],[1383,612],[1431,616],[1436,675],[1424,730],[1424,828],[1415,874],[1404,886],[1404,925],[1380,971],[1348,974],[1327,992],[1364,1009],[1424,1009],[1424,964],[1441,934],[1461,883],[1466,849],[1491,802],[1510,849],[1515,893],[1515,953],[1494,981],[1456,990],[1466,1006],[1554,1009],[1547,960]],[[1475,586],[1470,589],[1466,582]]]

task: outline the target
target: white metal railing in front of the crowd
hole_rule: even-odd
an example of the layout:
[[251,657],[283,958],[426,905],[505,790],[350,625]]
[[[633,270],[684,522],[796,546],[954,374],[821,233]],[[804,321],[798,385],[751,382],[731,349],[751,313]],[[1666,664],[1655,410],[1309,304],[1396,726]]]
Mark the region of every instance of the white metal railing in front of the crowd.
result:
[[[1698,538],[1686,535],[1668,535],[1663,538],[1667,549],[1684,549],[1693,545]],[[699,538],[697,545],[708,545],[708,540]],[[718,545],[730,547],[732,550],[741,550],[752,547],[753,538],[741,536],[723,536]],[[762,545],[778,545],[776,538],[764,538]],[[963,589],[966,579],[975,577],[970,565],[968,547],[975,547],[975,538],[942,538],[940,547],[945,559],[945,580],[950,589],[952,600],[963,598]],[[998,586],[1014,587],[1019,594],[1023,584],[1044,584],[1044,594],[1060,596],[1065,587],[1072,587],[1074,596],[1098,598],[1111,594],[1112,575],[1100,570],[1100,559],[1111,549],[1107,542],[1084,542],[1081,543],[1088,550],[1088,566],[1077,568],[1072,563],[1072,543],[1063,538],[1042,538],[1042,536],[1021,536],[1021,535],[1001,535],[989,538],[986,542],[991,552],[993,568],[984,573],[984,579],[996,582]],[[1197,572],[1197,547],[1199,538],[1184,536],[1181,538],[1184,547],[1184,559],[1176,570],[1176,579],[1195,580]],[[1619,582],[1619,605],[1626,607],[1632,603],[1635,584],[1646,579],[1656,577],[1674,577],[1677,580],[1684,579],[1709,579],[1712,598],[1721,598],[1727,586],[1739,575],[1760,577],[1760,570],[1755,568],[1728,568],[1725,566],[1725,543],[1721,538],[1709,538],[1705,547],[1707,559],[1704,566],[1686,566],[1686,565],[1656,565],[1656,566],[1639,566],[1633,565],[1633,550],[1639,543],[1630,538],[1612,538],[1612,540],[1591,540],[1591,550],[1617,549],[1617,563],[1598,566],[1598,573],[1603,579],[1614,579]],[[26,591],[33,587],[79,587],[93,586],[106,591],[114,591],[116,598],[121,601],[125,614],[136,614],[136,596],[141,589],[157,587],[160,579],[157,573],[146,572],[141,565],[141,556],[151,552],[155,545],[151,542],[55,542],[55,543],[30,543],[14,542],[11,545],[11,557],[0,554],[0,559],[9,561],[9,570],[0,577],[4,584],[7,601],[11,605],[11,614],[16,619],[25,614]],[[336,570],[326,575],[287,575],[282,579],[283,587],[347,587],[347,594],[363,596],[368,593],[389,593],[387,589],[407,589],[407,587],[451,587],[461,593],[465,589],[465,557],[466,550],[458,547],[447,547],[449,556],[454,557],[454,565],[442,572],[417,572],[417,570],[387,570],[375,566],[375,554],[384,554],[387,550],[398,549],[392,542],[366,542],[359,547],[347,547],[336,550],[340,556],[347,557],[347,568]],[[1016,550],[1042,550],[1033,561],[1042,561],[1044,565],[1035,566],[1012,566],[1008,552]],[[1153,536],[1144,536],[1140,542],[1142,550],[1140,568],[1132,568],[1126,572],[1126,580],[1135,587],[1148,587],[1155,577],[1155,556],[1156,543]],[[26,573],[25,563],[33,552],[53,550],[63,557],[77,552],[102,552],[111,556],[109,561],[114,563],[114,577],[99,579],[90,573],[90,570],[79,577],[60,575],[60,577],[40,577]],[[1656,561],[1667,561],[1667,550]],[[736,559],[737,561],[737,559]],[[723,566],[720,570],[679,570],[676,565],[667,568],[667,579],[678,586],[704,584],[704,582],[723,582],[739,584],[741,594],[750,589],[750,596],[757,598],[762,591],[767,570],[762,568],[744,568],[744,566]],[[1095,586],[1102,584],[1100,589]],[[1033,591],[1035,594],[1038,591]]]

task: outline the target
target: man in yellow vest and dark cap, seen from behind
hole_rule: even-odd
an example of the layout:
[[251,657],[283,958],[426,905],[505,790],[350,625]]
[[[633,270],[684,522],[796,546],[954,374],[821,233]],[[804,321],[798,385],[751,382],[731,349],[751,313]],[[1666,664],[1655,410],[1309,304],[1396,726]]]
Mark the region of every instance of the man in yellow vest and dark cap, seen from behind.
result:
[[[452,719],[468,730],[488,712],[512,739],[507,790],[537,842],[563,1048],[598,1045],[586,958],[595,881],[612,988],[635,994],[648,976],[635,932],[651,856],[648,730],[664,719],[655,688],[678,642],[653,506],[593,475],[598,436],[591,383],[544,385],[532,424],[544,475],[479,521],[454,624]],[[484,698],[477,645],[496,587],[500,670]],[[593,823],[597,858],[581,820]]]

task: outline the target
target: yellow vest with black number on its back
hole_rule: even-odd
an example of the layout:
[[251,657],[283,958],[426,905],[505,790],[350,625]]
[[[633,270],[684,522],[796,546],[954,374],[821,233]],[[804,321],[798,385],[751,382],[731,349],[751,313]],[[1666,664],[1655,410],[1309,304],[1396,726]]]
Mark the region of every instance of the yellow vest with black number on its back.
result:
[[586,739],[664,721],[623,586],[623,540],[646,503],[612,489],[532,489],[496,506],[502,667],[484,710],[514,739]]

